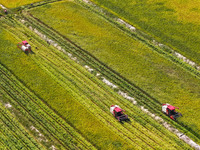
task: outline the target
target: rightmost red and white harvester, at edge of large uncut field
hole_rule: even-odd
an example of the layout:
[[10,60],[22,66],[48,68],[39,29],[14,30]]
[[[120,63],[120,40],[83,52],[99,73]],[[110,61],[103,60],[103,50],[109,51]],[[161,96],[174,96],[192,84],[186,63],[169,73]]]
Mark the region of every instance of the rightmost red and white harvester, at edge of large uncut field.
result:
[[172,120],[176,120],[178,117],[182,116],[181,113],[176,112],[178,107],[174,107],[170,104],[163,104],[162,105],[162,112],[169,116]]

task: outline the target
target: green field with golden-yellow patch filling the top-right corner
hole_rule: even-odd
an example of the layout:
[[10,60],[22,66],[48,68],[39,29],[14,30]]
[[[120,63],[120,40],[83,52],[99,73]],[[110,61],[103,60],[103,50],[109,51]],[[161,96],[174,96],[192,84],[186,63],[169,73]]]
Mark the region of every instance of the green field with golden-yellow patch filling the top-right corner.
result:
[[92,1],[200,64],[199,1]]

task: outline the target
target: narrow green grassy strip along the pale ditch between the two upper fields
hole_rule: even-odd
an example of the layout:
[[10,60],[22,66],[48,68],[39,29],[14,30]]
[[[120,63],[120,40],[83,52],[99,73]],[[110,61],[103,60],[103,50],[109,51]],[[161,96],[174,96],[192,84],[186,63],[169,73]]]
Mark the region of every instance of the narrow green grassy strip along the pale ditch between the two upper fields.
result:
[[[97,1],[93,1],[93,2],[96,3]],[[187,71],[189,71],[193,75],[199,77],[199,75],[200,75],[199,70],[197,70],[196,67],[193,67],[193,66],[189,65],[187,62],[184,62],[183,60],[179,59],[176,55],[173,54],[173,53],[175,53],[175,51],[172,50],[170,47],[156,42],[153,37],[151,37],[150,35],[146,34],[142,30],[140,30],[140,28],[138,28],[134,32],[132,32],[130,29],[128,29],[127,27],[125,27],[124,25],[120,24],[117,21],[117,19],[121,19],[122,18],[123,20],[125,20],[125,22],[130,23],[130,20],[125,19],[127,16],[124,18],[124,17],[119,15],[120,13],[117,14],[117,13],[113,12],[111,9],[109,9],[107,7],[104,7],[103,5],[98,6],[98,4],[97,5],[91,4],[91,3],[87,4],[87,3],[83,2],[82,0],[77,0],[77,2],[79,2],[80,4],[85,6],[86,8],[92,10],[97,15],[100,15],[103,18],[105,18],[106,20],[110,21],[111,23],[113,23],[114,25],[116,25],[117,27],[119,27],[120,29],[125,31],[126,33],[130,34],[133,38],[136,38],[137,40],[142,41],[143,43],[147,44],[147,46],[152,48],[152,50],[155,50],[156,52],[158,52],[160,55],[162,55],[165,58],[173,61],[174,63],[176,63],[178,65],[180,65],[180,67],[183,67],[184,69],[186,69]],[[110,3],[110,2],[108,2],[108,3]],[[134,23],[134,21],[132,23]],[[163,34],[163,35],[165,35],[165,34]],[[156,42],[157,44],[155,44],[154,42]],[[170,42],[168,42],[167,45],[169,43]],[[159,44],[161,44],[162,46],[159,46]],[[181,51],[181,49],[177,49],[177,48],[175,48],[175,49],[177,51]],[[192,57],[191,59],[194,60],[194,57]],[[197,59],[196,59],[196,61],[197,61]]]

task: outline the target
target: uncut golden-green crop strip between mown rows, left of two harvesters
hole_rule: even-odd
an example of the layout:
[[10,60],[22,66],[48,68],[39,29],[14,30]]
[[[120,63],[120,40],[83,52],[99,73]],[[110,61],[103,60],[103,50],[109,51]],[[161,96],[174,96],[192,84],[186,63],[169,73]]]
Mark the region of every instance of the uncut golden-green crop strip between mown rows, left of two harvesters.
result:
[[[122,138],[118,138],[118,136],[115,136],[115,133],[108,130],[104,124],[95,119],[90,112],[85,110],[82,105],[70,96],[71,94],[69,94],[69,92],[60,87],[51,77],[45,74],[44,71],[34,63],[31,56],[27,57],[20,50],[16,49],[14,44],[16,39],[12,36],[13,35],[8,34],[7,32],[4,33],[3,37],[6,38],[7,41],[4,39],[2,39],[2,41],[4,44],[10,46],[1,49],[1,62],[6,64],[8,69],[11,69],[20,80],[26,83],[27,87],[36,92],[39,97],[51,105],[52,108],[56,109],[59,114],[62,114],[68,123],[73,124],[73,127],[84,134],[84,137],[89,139],[90,142],[92,141],[95,146],[112,149],[117,147],[117,145],[114,145],[115,143],[113,141],[126,143]],[[8,41],[10,44],[7,43]],[[13,66],[13,63],[10,63],[12,60],[15,60],[15,63],[19,65],[17,69]],[[46,93],[45,90],[48,92]],[[66,96],[69,98],[68,100],[66,99]],[[78,119],[80,114],[85,116],[81,120]],[[98,136],[97,139],[93,138],[95,135]],[[107,142],[103,142],[105,140]],[[122,147],[129,147],[127,144],[120,145]]]

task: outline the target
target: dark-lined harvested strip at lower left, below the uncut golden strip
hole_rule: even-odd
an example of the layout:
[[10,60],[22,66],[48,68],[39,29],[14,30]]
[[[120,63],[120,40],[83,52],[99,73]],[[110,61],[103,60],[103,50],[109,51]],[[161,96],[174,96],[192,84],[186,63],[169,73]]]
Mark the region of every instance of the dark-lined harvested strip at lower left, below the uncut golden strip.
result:
[[[9,75],[9,78],[7,74],[8,72],[6,72],[6,77],[3,77],[4,83],[2,84],[4,86],[4,91],[12,96],[18,95],[15,97],[15,100],[19,101],[18,98],[20,98],[20,103],[18,102],[18,105],[23,105],[22,109],[24,110],[27,110],[26,108],[28,108],[26,112],[29,112],[29,114],[27,114],[29,117],[38,120],[40,126],[43,126],[44,129],[46,129],[51,134],[51,136],[53,136],[52,134],[54,134],[54,137],[67,149],[70,147],[92,148],[92,146],[87,141],[85,141],[80,135],[73,131],[73,128],[67,125],[63,120],[59,119],[58,116],[56,116],[55,113],[50,111],[49,108],[41,103],[41,101],[38,100],[36,96],[34,96],[33,94],[30,95],[30,92],[27,93],[28,91],[27,89],[25,89],[25,87],[23,87],[19,83],[16,83],[16,79],[10,77],[12,76],[11,74]],[[21,87],[23,87],[23,89],[21,89]],[[8,89],[10,90],[8,91]],[[14,93],[11,94],[12,92]],[[12,99],[14,99],[14,97]],[[27,101],[27,104],[25,104],[23,100]],[[79,146],[75,146],[73,143],[79,143]]]

